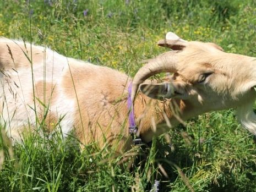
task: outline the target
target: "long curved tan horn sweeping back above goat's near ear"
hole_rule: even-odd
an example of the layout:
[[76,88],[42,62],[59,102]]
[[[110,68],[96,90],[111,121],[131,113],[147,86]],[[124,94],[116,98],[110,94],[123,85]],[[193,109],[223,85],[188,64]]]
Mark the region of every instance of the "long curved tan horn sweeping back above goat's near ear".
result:
[[161,72],[176,72],[177,57],[175,54],[180,51],[170,51],[156,58],[149,59],[133,78],[132,94],[131,98],[134,101],[135,95],[138,91],[139,85],[143,83],[150,76]]

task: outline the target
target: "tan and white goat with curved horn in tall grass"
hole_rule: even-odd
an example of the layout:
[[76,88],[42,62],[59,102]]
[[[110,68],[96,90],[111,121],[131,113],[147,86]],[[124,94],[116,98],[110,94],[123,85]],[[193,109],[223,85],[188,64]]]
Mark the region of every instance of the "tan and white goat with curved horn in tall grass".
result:
[[[172,33],[159,45],[176,51],[150,59],[133,80],[138,134],[145,142],[177,125],[179,119],[232,107],[244,127],[256,134],[255,58],[225,53],[214,43],[187,42]],[[49,132],[56,125],[64,135],[74,130],[81,144],[107,142],[118,150],[130,146],[127,89],[132,79],[126,74],[3,38],[0,70],[1,120],[14,140],[43,120]],[[172,72],[170,81],[143,83],[160,72]],[[168,126],[151,128],[152,122],[166,121]]]

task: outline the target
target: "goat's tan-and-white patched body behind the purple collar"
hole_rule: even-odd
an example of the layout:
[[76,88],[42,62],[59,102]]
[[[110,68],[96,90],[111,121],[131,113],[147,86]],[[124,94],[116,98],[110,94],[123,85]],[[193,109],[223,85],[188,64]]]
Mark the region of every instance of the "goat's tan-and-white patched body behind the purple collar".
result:
[[[49,132],[56,124],[63,135],[74,129],[82,144],[131,140],[127,128],[131,79],[126,74],[21,41],[0,39],[0,50],[1,118],[11,138],[20,140],[21,133],[43,121]],[[148,97],[140,95],[139,100],[137,116],[155,114],[159,119],[159,110],[146,107]],[[151,124],[150,118],[143,119],[141,133]]]

